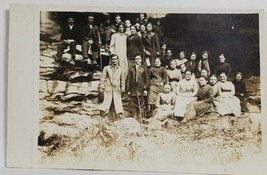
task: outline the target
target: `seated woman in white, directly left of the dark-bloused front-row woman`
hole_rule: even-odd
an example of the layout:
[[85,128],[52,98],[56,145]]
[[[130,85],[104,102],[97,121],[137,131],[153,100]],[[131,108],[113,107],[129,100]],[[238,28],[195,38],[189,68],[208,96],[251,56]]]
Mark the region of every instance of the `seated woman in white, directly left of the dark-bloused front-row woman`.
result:
[[185,72],[185,79],[179,81],[176,90],[176,102],[174,107],[174,115],[183,117],[186,111],[186,106],[193,100],[196,100],[198,84],[192,78],[190,71]]

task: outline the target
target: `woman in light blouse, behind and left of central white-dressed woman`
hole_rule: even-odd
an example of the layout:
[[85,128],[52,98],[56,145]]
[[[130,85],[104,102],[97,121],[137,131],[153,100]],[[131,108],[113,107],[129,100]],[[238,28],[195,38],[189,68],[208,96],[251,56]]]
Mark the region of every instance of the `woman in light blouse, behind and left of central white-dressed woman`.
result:
[[171,84],[172,91],[175,91],[179,81],[182,79],[180,69],[176,68],[176,61],[170,61],[170,69],[167,69],[168,81]]

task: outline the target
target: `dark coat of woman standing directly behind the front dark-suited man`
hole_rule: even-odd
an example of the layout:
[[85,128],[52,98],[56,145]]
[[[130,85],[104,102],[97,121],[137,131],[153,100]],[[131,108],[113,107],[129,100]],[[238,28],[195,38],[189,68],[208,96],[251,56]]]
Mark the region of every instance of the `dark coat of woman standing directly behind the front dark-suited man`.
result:
[[134,60],[136,54],[143,54],[143,41],[139,35],[131,35],[127,38],[127,58]]

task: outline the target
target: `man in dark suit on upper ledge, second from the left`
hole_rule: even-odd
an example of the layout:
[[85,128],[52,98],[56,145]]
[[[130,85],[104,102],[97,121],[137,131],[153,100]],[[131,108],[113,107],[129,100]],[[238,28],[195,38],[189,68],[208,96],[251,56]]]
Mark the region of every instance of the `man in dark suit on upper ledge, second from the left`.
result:
[[[92,60],[89,58],[89,48],[92,50]],[[88,15],[88,24],[86,24],[82,30],[82,54],[85,60],[88,60],[88,64],[97,64],[99,57],[99,49],[101,47],[101,38],[99,28],[94,25],[94,16]]]

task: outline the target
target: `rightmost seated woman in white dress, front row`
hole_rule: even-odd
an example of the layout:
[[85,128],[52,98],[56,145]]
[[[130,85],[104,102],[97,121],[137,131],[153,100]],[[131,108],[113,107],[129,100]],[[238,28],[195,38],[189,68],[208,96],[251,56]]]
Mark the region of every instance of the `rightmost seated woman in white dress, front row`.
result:
[[227,81],[227,76],[223,72],[220,74],[218,96],[214,98],[215,110],[221,116],[241,114],[240,100],[235,96],[235,86]]

